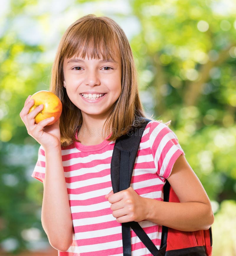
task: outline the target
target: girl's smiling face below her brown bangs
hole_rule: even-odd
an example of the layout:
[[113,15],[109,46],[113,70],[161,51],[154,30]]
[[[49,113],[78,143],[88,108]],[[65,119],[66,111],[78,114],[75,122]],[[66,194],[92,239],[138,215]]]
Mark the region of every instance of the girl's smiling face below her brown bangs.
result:
[[89,59],[72,57],[63,62],[64,87],[83,118],[106,119],[121,93],[121,58]]

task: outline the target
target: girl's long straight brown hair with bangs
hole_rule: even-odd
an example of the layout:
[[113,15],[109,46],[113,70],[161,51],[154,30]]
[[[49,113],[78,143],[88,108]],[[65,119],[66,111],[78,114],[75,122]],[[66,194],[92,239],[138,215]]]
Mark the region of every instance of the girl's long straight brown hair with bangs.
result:
[[62,101],[60,117],[61,144],[67,146],[75,140],[75,133],[82,124],[80,109],[69,99],[63,87],[63,61],[72,56],[85,58],[112,58],[118,50],[122,63],[122,89],[114,103],[105,127],[112,129],[109,141],[127,133],[144,112],[137,85],[137,72],[130,44],[121,27],[108,17],[87,15],[74,22],[64,33],[52,68],[50,91]]

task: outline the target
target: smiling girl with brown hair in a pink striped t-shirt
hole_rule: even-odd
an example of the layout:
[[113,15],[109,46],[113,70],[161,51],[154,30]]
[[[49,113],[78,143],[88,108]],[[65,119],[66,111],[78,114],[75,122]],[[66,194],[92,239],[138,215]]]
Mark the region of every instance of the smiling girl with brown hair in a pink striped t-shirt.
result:
[[[122,29],[88,15],[63,35],[50,90],[62,101],[59,121],[35,124],[43,109],[21,118],[41,146],[33,177],[43,182],[42,226],[59,255],[122,255],[121,223],[138,221],[160,247],[162,226],[183,231],[213,223],[209,198],[184,157],[175,134],[151,121],[143,133],[131,186],[112,192],[115,140],[144,117],[132,51]],[[181,203],[163,202],[168,180]],[[150,255],[131,230],[132,255]]]

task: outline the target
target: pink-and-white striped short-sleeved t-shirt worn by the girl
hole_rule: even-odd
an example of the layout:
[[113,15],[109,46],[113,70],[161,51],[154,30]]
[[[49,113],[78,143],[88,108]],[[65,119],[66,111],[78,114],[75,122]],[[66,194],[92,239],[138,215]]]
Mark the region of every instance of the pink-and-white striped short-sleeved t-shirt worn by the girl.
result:
[[[121,224],[112,216],[105,195],[112,190],[110,165],[114,141],[85,146],[74,142],[62,148],[62,162],[74,226],[74,241],[60,256],[122,256]],[[142,197],[163,200],[163,185],[176,159],[183,154],[176,135],[165,124],[151,121],[141,138],[131,187]],[[33,177],[42,181],[45,154],[40,146]],[[163,213],[164,214],[164,213]],[[160,248],[162,226],[139,222]],[[132,255],[151,255],[131,230]]]

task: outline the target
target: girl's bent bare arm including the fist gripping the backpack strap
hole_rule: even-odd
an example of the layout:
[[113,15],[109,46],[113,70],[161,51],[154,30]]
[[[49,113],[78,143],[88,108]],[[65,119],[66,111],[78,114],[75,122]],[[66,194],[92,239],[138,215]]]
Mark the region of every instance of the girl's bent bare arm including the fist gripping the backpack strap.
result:
[[180,203],[143,198],[130,187],[106,195],[113,216],[121,223],[146,219],[181,231],[208,229],[214,221],[209,198],[183,155],[176,160],[168,181]]

